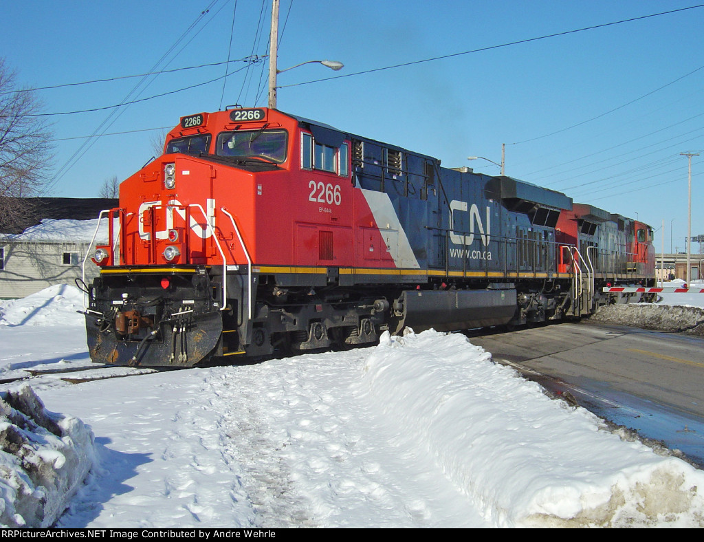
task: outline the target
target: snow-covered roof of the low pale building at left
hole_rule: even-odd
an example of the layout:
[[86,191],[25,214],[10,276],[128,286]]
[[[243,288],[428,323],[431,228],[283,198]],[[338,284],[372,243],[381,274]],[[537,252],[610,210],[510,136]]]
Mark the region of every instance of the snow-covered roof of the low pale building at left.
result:
[[[44,218],[36,226],[25,229],[21,234],[0,235],[0,241],[33,243],[89,243],[93,238],[98,219],[92,220],[54,220]],[[96,242],[108,242],[108,221],[102,220]]]

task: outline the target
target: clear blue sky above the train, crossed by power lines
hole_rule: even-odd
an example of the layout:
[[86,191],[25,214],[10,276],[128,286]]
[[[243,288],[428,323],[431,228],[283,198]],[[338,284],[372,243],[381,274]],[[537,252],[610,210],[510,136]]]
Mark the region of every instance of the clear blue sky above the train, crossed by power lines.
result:
[[[140,81],[116,77],[265,56],[270,4],[6,2],[0,56],[28,87],[111,79],[37,91],[46,113],[106,108]],[[665,251],[671,239],[682,251],[687,158],[680,153],[703,154],[692,160],[692,234],[704,234],[704,7],[494,46],[697,4],[281,0],[279,69],[326,58],[345,67],[310,64],[280,74],[278,108],[489,174],[498,167],[467,156],[500,162],[506,144],[507,175],[654,229],[665,220]],[[363,73],[477,49],[486,50]],[[163,73],[129,100],[165,96],[52,115],[50,195],[92,197],[105,179],[131,175],[153,156],[152,140],[163,130],[151,129],[172,127],[183,115],[265,106],[267,70],[266,61],[231,63],[224,89],[224,65]],[[104,135],[87,139],[94,133]]]

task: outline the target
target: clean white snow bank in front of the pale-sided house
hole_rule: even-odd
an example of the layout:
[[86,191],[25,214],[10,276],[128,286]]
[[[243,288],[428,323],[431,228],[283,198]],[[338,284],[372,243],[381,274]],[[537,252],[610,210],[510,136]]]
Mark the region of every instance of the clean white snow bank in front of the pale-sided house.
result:
[[85,325],[83,294],[75,286],[55,284],[22,299],[0,302],[2,326]]

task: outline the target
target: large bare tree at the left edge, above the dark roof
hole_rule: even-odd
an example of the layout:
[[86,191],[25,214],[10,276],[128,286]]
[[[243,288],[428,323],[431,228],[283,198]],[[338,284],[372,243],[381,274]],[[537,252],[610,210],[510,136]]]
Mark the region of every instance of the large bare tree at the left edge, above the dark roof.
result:
[[42,103],[30,89],[17,87],[17,75],[0,58],[0,225],[16,225],[28,213],[21,199],[47,188],[52,147]]

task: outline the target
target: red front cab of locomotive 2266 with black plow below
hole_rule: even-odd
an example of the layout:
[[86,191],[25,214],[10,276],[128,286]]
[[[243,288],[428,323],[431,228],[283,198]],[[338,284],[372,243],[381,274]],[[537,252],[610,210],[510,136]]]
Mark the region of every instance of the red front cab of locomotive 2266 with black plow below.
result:
[[[280,336],[322,348],[340,335],[333,327],[344,327],[350,344],[377,338],[375,299],[355,297],[367,307],[355,312],[330,308],[346,293],[313,293],[353,264],[345,134],[236,109],[182,118],[164,151],[122,182],[118,241],[96,251],[101,278],[87,314],[94,361],[189,366],[270,355]],[[309,314],[312,300],[326,310]]]

